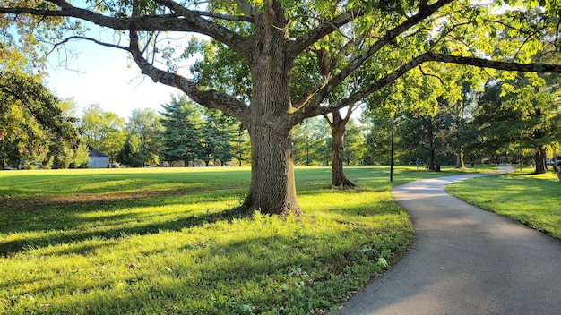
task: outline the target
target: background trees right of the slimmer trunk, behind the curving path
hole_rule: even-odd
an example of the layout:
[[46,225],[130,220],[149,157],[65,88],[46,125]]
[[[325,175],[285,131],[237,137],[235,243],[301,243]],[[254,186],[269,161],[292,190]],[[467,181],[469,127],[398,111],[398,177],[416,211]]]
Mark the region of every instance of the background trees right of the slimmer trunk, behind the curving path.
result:
[[[561,76],[516,73],[480,85],[459,81],[459,98],[435,98],[425,107],[393,106],[393,117],[366,110],[365,164],[388,164],[391,122],[395,161],[419,158],[429,169],[465,163],[523,163],[545,173],[560,152]],[[384,99],[384,96],[382,96]]]

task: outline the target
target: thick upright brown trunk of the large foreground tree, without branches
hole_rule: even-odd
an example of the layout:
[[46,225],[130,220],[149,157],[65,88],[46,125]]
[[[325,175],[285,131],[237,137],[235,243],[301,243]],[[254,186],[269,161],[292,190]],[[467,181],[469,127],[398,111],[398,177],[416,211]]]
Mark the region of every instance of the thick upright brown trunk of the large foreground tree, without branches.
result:
[[251,184],[242,209],[266,214],[298,215],[292,163],[290,122],[290,71],[287,40],[280,25],[286,25],[277,2],[255,21],[254,60],[250,64],[253,88],[248,123],[251,138]]

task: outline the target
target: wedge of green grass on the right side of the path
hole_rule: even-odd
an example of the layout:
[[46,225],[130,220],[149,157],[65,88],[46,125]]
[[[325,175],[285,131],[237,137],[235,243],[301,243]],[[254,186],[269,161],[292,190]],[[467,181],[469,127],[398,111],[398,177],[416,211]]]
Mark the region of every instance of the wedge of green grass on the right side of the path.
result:
[[481,177],[446,188],[481,209],[511,217],[561,240],[561,183],[553,172],[533,175],[533,168],[509,175]]

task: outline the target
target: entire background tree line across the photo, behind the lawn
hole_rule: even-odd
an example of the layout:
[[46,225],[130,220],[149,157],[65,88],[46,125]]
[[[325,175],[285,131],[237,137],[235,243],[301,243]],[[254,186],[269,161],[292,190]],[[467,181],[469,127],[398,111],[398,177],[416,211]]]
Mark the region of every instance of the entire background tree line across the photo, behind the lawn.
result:
[[[171,96],[160,112],[135,109],[127,119],[91,105],[76,115],[73,99],[60,100],[27,68],[17,50],[2,47],[0,68],[0,166],[85,167],[88,147],[120,166],[249,165],[250,142],[237,119]],[[447,69],[453,72],[453,69]],[[419,158],[437,165],[523,162],[548,168],[559,153],[561,109],[558,74],[530,74],[454,82],[455,94],[435,92],[427,76],[405,76],[368,99],[360,123],[344,125],[345,165]],[[444,78],[444,77],[443,77]],[[443,85],[446,78],[439,79]],[[419,88],[422,86],[422,89]],[[446,88],[450,89],[450,88]],[[384,106],[368,106],[368,102]],[[372,110],[370,108],[377,108]],[[293,158],[300,166],[332,164],[332,115],[310,118],[293,129]]]

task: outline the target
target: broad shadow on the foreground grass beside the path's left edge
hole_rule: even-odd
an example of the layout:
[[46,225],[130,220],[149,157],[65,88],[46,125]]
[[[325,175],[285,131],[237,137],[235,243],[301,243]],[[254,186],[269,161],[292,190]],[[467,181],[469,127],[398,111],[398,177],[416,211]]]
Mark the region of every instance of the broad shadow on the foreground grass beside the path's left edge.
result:
[[[339,237],[344,238],[349,232],[340,233]],[[263,247],[263,244],[268,245]],[[296,310],[311,308],[308,310],[311,311],[326,303],[340,301],[347,292],[356,288],[356,280],[345,275],[350,272],[348,267],[356,264],[356,255],[371,260],[371,274],[361,275],[364,278],[358,281],[362,282],[361,285],[366,284],[367,278],[375,276],[376,270],[381,271],[375,267],[375,257],[367,257],[370,251],[357,251],[356,244],[352,243],[332,245],[328,251],[315,251],[314,238],[306,240],[281,235],[253,236],[226,245],[211,243],[198,248],[195,259],[215,261],[203,265],[196,272],[186,268],[181,260],[174,260],[175,263],[168,262],[166,268],[151,268],[156,274],[151,270],[150,275],[163,280],[152,281],[142,273],[144,265],[141,260],[140,269],[136,272],[113,281],[99,279],[81,287],[78,291],[82,294],[68,293],[67,298],[59,298],[52,305],[41,307],[48,307],[52,313],[174,313],[179,309],[189,313],[240,313],[242,309],[238,308],[243,305],[259,305],[263,307],[262,311],[288,305]],[[256,248],[260,250],[255,251]],[[286,254],[286,251],[291,254]],[[118,290],[116,281],[125,284],[126,290]],[[279,285],[272,290],[268,286],[271,283]],[[327,289],[318,291],[315,287]],[[246,290],[248,294],[239,294]],[[43,292],[60,291],[65,294],[65,287],[53,279],[47,281],[47,286],[43,285],[31,293],[41,298]]]

